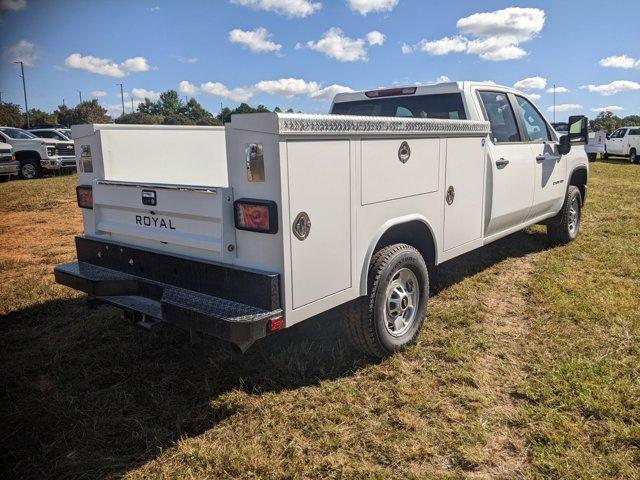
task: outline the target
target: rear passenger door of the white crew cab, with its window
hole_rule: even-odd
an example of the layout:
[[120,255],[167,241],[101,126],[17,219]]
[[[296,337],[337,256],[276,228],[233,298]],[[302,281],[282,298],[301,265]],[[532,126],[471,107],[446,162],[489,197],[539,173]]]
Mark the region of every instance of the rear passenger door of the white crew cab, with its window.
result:
[[520,225],[533,204],[535,160],[522,141],[509,95],[478,92],[482,111],[491,124],[487,148],[487,206],[485,236]]

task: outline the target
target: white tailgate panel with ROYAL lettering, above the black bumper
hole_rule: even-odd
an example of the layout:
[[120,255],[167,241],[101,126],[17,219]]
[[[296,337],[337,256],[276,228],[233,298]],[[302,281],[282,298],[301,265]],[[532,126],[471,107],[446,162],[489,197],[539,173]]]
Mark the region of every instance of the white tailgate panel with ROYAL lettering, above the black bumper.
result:
[[190,247],[225,257],[227,245],[235,243],[230,188],[98,180],[93,211],[97,235],[129,244]]

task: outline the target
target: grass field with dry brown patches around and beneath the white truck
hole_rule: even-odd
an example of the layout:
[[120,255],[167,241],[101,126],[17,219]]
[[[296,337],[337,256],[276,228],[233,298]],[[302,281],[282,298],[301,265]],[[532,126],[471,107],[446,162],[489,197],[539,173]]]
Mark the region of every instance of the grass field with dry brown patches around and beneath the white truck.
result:
[[382,362],[340,312],[241,356],[53,282],[75,177],[0,185],[3,478],[640,478],[640,167],[592,164],[578,241],[440,266]]

